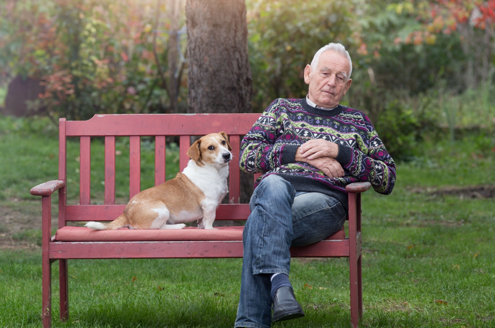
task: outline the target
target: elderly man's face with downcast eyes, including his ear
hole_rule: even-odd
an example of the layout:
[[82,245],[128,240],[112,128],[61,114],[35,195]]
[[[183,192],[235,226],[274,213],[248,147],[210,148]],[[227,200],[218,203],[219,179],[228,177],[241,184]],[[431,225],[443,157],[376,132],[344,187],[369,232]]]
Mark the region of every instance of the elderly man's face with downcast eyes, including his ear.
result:
[[331,50],[320,55],[318,66],[304,68],[304,82],[309,84],[309,99],[320,107],[334,108],[352,83],[348,78],[349,61]]

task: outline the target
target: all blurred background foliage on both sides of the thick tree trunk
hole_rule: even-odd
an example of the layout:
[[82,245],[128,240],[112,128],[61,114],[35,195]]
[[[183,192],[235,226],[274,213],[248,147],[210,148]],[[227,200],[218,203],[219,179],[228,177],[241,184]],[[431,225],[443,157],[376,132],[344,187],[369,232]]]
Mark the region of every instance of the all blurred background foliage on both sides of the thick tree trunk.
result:
[[[46,92],[31,105],[48,105],[53,118],[167,112],[166,83],[157,72],[157,60],[167,69],[166,40],[153,38],[155,10],[165,10],[159,3],[1,1],[0,79],[42,79]],[[323,45],[340,42],[353,61],[342,103],[370,116],[396,159],[414,156],[429,134],[454,139],[461,129],[481,131],[480,147],[490,147],[495,1],[246,3],[253,111],[278,97],[305,97],[305,65]],[[182,108],[186,94],[184,82]]]

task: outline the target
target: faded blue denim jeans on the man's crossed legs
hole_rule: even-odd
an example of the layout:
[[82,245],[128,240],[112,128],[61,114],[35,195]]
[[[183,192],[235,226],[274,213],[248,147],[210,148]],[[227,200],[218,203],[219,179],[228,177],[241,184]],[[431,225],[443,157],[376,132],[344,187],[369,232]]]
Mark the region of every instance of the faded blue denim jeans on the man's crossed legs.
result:
[[234,327],[267,328],[272,318],[271,283],[270,275],[263,273],[289,274],[289,247],[308,245],[332,235],[342,228],[347,213],[335,198],[296,192],[290,182],[275,174],[261,180],[249,207]]

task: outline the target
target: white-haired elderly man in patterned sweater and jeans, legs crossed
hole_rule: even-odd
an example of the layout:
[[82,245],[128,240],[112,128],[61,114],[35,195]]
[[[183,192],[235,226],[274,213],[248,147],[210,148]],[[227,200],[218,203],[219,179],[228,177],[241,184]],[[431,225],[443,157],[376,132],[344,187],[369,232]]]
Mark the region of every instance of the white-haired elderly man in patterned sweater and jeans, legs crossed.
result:
[[289,247],[342,228],[347,184],[369,181],[381,194],[392,192],[395,164],[370,120],[339,105],[351,71],[344,46],[321,48],[304,69],[306,98],[275,100],[241,143],[241,169],[263,175],[244,229],[235,327],[266,328],[304,316],[289,282]]

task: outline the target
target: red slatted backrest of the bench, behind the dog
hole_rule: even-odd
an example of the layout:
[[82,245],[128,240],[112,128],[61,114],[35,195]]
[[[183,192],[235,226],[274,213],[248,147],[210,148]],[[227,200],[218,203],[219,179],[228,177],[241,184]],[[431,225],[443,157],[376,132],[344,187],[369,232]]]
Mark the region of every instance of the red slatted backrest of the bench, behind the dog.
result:
[[[58,179],[67,181],[67,137],[80,137],[79,205],[67,205],[66,187],[59,192],[59,227],[65,221],[108,221],[122,214],[125,204],[115,204],[115,137],[129,137],[129,199],[141,190],[141,137],[155,137],[155,185],[165,181],[165,137],[180,136],[179,167],[188,161],[191,136],[225,131],[229,135],[234,160],[230,162],[229,200],[217,209],[217,220],[247,219],[249,205],[239,204],[240,169],[238,164],[241,136],[259,117],[249,114],[108,114],[95,115],[87,121],[59,122]],[[104,205],[91,205],[91,137],[105,140]],[[255,178],[259,174],[255,174]]]

